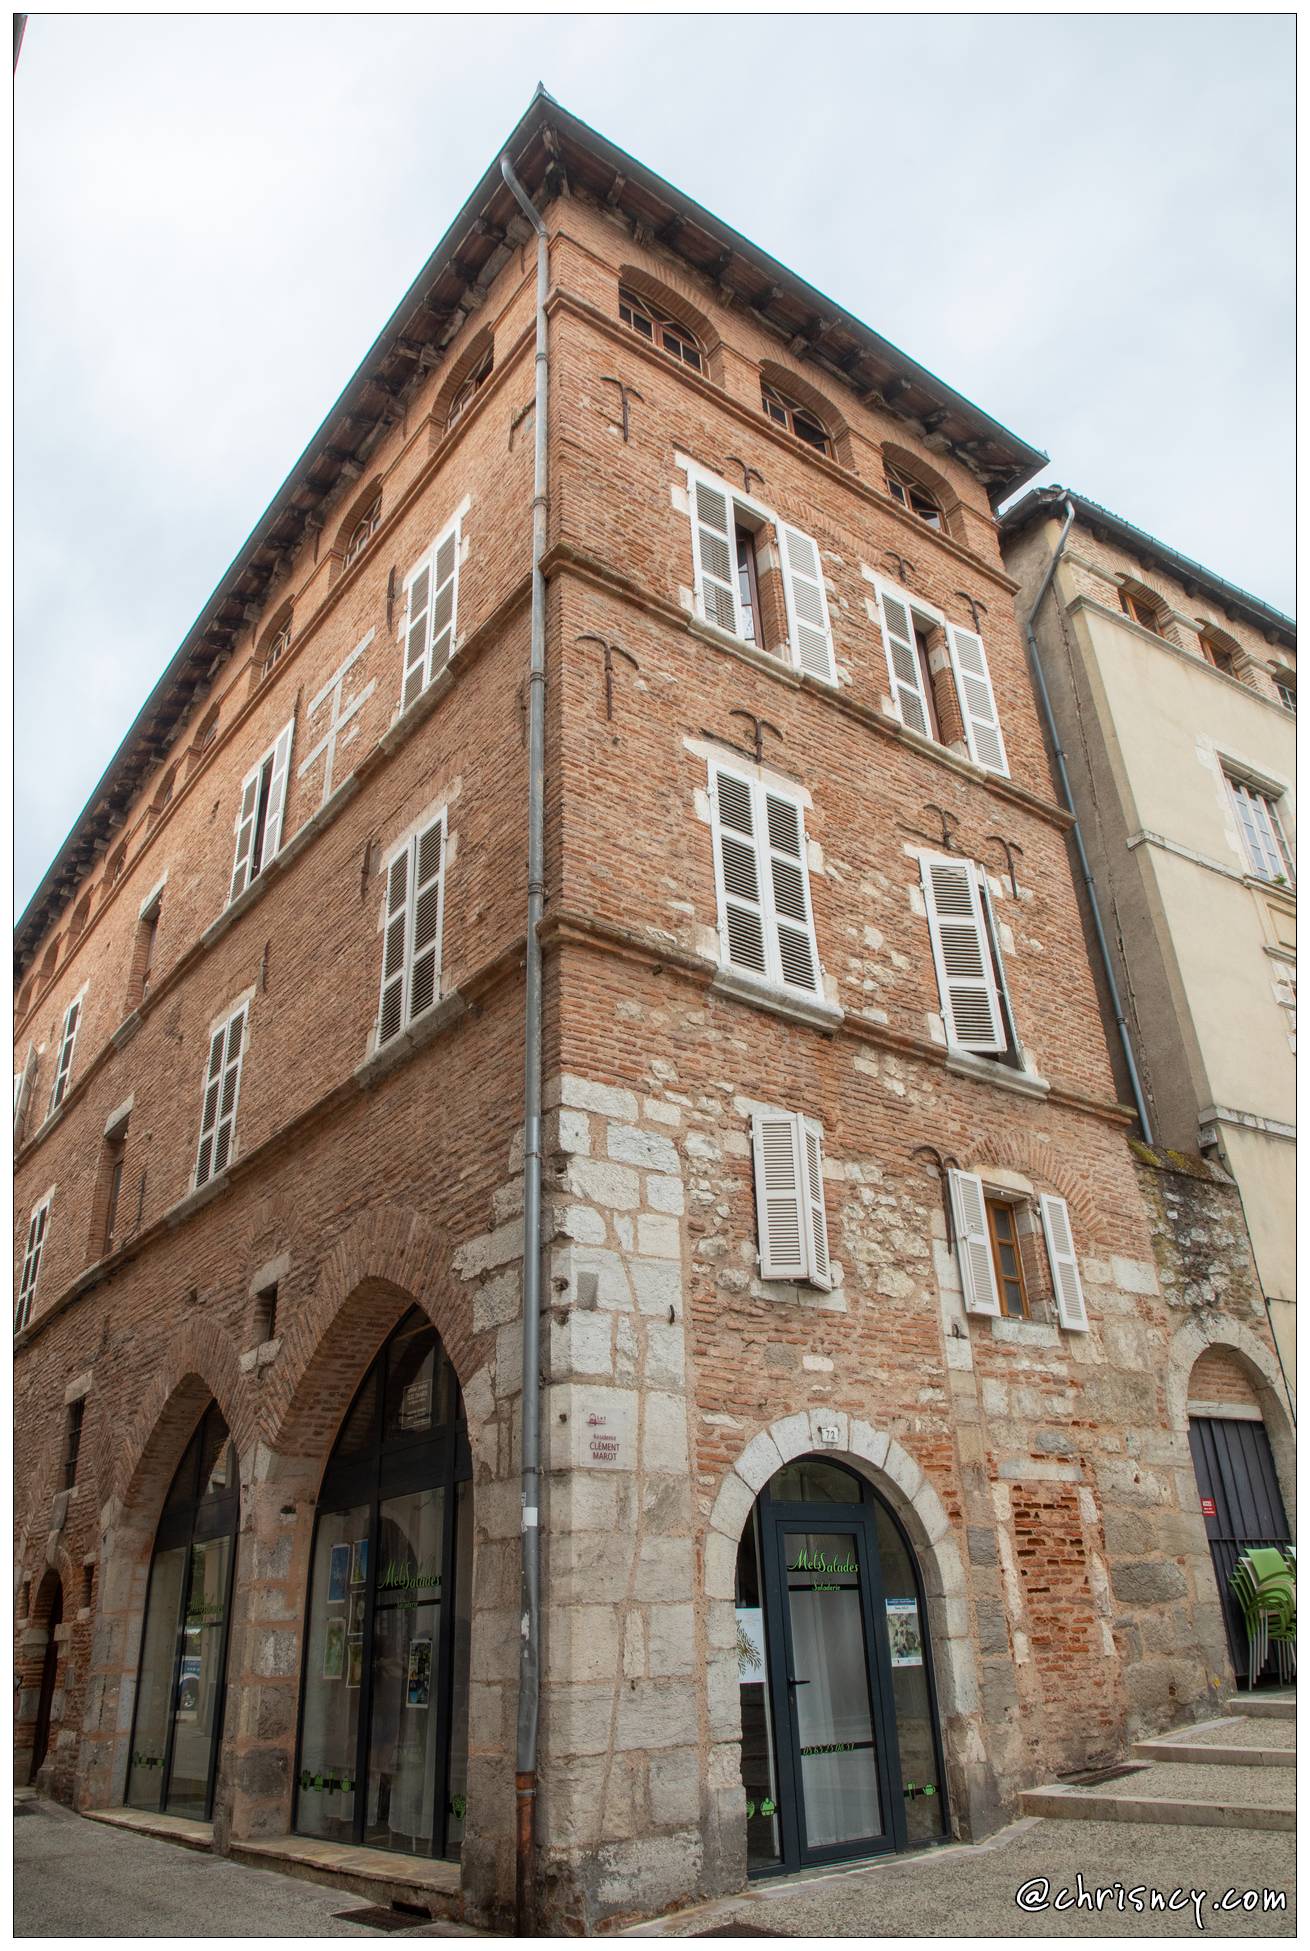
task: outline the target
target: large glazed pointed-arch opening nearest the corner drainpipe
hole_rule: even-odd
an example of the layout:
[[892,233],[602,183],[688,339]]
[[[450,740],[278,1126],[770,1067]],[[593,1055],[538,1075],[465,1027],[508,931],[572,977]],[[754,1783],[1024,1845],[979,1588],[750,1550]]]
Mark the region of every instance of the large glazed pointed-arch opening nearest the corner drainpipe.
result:
[[414,1307],[373,1360],[318,1493],[301,1658],[303,1836],[459,1855],[471,1567],[463,1397]]

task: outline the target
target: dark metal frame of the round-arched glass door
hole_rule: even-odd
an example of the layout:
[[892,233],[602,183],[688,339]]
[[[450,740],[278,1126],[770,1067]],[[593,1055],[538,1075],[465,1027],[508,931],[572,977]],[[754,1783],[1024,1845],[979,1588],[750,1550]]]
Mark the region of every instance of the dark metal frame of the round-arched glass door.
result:
[[[752,1871],[752,1877],[795,1875],[798,1869],[888,1855],[908,1846],[904,1779],[896,1734],[896,1695],[892,1688],[890,1643],[886,1635],[886,1606],[879,1557],[877,1510],[882,1510],[882,1514],[890,1520],[906,1551],[914,1576],[933,1756],[937,1762],[937,1799],[941,1809],[941,1834],[937,1840],[949,1840],[949,1803],[941,1752],[941,1719],[937,1713],[937,1682],[933,1676],[931,1637],[923,1600],[923,1574],[920,1571],[918,1553],[896,1512],[877,1494],[865,1477],[853,1471],[847,1463],[841,1463],[838,1457],[814,1457],[814,1461],[841,1469],[843,1475],[857,1485],[859,1502],[781,1502],[769,1494],[769,1485],[765,1485],[756,1502],[756,1512],[759,1516],[759,1580],[763,1600],[765,1658],[769,1662],[769,1703],[773,1715],[773,1754],[779,1779],[779,1828],[783,1850],[777,1863],[761,1865]],[[880,1836],[855,1838],[853,1842],[828,1844],[816,1850],[808,1848],[804,1842],[800,1820],[800,1740],[797,1727],[797,1690],[793,1686],[793,1680],[798,1676],[793,1666],[791,1606],[787,1598],[783,1551],[783,1533],[789,1530],[855,1532],[859,1537],[859,1594],[861,1623],[865,1629],[865,1670],[869,1676],[869,1709],[877,1744],[879,1797],[882,1803]]]

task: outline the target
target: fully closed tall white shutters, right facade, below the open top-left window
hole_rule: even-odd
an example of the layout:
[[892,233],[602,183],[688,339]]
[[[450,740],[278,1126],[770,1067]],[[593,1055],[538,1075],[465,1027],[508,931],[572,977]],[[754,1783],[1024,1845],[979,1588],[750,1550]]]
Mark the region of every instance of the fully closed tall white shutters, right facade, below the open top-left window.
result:
[[818,993],[800,802],[711,767],[718,952],[724,966]]

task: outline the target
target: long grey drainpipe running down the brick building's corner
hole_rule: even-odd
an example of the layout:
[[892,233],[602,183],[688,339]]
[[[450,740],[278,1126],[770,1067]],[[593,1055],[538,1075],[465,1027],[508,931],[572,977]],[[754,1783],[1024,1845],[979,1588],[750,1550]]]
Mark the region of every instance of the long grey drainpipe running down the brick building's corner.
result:
[[547,769],[547,226],[510,158],[500,174],[537,232],[537,392],[533,408],[533,626],[527,665],[527,948],[523,970],[523,1508],[519,1615],[519,1723],[513,1760],[515,1795],[515,1935],[537,1935],[537,1723],[541,1699],[541,940],[545,907],[545,769]]

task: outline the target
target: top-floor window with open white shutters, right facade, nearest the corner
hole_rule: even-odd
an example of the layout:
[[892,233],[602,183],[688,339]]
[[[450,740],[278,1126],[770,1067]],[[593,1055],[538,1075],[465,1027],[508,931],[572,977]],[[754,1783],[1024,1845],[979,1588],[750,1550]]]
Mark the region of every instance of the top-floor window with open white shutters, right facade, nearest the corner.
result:
[[838,671],[818,544],[711,476],[691,476],[689,509],[695,601],[705,622],[771,650],[761,628],[759,556],[765,535],[777,535],[789,657],[800,671],[834,685]]

